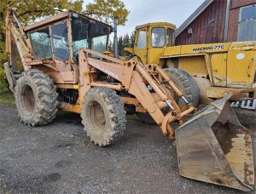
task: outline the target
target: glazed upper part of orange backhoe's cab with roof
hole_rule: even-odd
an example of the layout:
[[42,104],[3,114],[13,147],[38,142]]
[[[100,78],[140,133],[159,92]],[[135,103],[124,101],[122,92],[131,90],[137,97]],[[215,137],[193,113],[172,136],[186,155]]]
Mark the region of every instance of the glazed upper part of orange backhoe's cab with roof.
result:
[[108,50],[112,26],[73,11],[63,12],[24,28],[34,60],[73,61],[79,48]]

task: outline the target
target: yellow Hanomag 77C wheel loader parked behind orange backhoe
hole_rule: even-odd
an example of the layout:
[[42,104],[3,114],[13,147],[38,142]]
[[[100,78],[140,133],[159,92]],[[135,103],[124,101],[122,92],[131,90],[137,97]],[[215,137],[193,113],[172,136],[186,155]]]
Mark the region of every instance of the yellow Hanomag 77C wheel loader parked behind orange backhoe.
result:
[[[125,50],[144,64],[189,73],[199,88],[200,104],[227,93],[233,94],[230,100],[256,99],[256,42],[175,46],[175,29],[166,22],[137,26],[135,46]],[[174,74],[180,73],[169,73],[171,77]]]

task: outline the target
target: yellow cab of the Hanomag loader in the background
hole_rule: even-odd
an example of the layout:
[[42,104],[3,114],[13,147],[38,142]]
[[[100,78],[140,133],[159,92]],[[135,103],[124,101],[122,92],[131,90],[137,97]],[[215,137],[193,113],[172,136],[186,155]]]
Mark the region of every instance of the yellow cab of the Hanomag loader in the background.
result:
[[159,58],[164,54],[165,48],[174,46],[175,29],[176,26],[166,22],[137,26],[135,47],[130,49],[144,64],[160,64]]

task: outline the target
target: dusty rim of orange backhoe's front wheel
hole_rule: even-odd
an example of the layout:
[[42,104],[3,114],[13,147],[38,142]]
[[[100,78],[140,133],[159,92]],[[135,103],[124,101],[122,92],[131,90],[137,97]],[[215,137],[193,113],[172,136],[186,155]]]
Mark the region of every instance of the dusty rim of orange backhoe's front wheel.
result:
[[89,108],[89,120],[96,134],[102,134],[106,125],[106,116],[101,104],[92,101]]

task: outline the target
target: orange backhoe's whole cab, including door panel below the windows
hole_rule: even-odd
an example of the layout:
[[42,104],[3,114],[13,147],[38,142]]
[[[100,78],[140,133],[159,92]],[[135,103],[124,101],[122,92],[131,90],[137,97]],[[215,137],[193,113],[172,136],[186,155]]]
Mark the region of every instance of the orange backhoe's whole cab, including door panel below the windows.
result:
[[49,72],[55,83],[78,83],[75,71],[79,68],[76,65],[79,48],[103,53],[108,50],[108,37],[113,31],[112,26],[72,11],[36,22],[24,30],[31,43],[33,63],[47,61],[56,65],[55,71],[52,66],[38,66],[41,71]]

